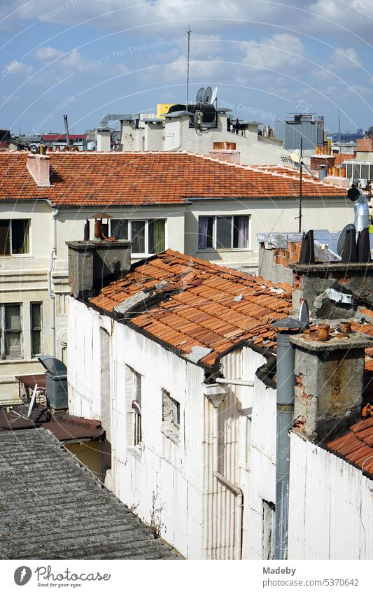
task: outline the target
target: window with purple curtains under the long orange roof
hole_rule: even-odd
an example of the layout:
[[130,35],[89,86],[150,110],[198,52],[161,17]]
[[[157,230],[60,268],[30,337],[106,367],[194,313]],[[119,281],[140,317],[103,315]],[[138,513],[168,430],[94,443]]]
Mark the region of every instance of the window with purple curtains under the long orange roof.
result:
[[248,215],[203,216],[198,219],[199,250],[236,250],[249,246]]

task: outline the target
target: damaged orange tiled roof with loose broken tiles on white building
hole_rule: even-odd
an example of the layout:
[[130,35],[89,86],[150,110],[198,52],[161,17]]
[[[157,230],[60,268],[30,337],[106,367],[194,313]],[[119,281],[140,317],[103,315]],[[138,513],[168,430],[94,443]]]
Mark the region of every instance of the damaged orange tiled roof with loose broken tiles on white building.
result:
[[[162,281],[167,285],[155,288]],[[211,349],[201,359],[205,365],[213,365],[218,355],[241,340],[273,348],[272,321],[288,316],[291,309],[290,285],[274,285],[173,250],[134,264],[125,278],[102,289],[91,303],[112,312],[125,299],[152,289],[155,294],[175,292],[164,299],[160,295],[160,303],[149,305],[131,323],[185,355],[194,347]]]

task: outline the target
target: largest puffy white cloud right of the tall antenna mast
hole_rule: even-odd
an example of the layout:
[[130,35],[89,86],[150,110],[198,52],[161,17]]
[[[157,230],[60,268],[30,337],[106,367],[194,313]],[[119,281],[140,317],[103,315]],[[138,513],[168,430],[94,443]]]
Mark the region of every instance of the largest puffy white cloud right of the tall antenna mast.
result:
[[265,69],[293,69],[304,56],[304,45],[299,37],[279,33],[262,38],[260,43],[241,43],[243,61],[250,66]]

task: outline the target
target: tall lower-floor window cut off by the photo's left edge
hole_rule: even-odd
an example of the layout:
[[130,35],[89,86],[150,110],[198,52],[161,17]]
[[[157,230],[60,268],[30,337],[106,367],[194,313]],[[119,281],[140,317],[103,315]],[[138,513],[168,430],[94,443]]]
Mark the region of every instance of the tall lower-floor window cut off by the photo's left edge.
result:
[[19,303],[0,305],[0,358],[22,359],[22,324]]

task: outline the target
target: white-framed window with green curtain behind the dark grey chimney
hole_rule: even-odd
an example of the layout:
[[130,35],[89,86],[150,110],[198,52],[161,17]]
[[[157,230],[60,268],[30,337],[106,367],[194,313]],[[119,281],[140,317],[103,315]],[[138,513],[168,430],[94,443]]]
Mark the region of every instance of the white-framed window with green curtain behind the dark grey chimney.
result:
[[111,235],[132,241],[132,254],[157,254],[165,249],[165,219],[111,220]]

